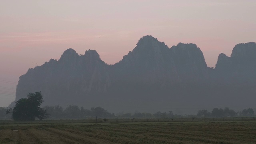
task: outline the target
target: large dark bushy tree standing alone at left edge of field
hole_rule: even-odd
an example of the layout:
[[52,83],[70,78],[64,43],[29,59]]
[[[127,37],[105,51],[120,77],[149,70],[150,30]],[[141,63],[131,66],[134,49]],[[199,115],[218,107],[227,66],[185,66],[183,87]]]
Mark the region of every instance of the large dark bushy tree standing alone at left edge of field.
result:
[[15,103],[12,112],[13,120],[34,121],[36,118],[40,120],[47,118],[46,110],[39,107],[44,102],[41,92],[29,93],[27,97]]

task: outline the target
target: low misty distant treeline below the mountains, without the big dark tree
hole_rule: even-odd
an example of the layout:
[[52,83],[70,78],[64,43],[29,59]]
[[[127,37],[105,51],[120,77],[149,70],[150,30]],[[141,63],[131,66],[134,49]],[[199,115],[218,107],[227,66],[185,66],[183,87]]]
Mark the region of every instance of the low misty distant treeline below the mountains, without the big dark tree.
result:
[[[84,107],[79,107],[75,105],[69,105],[66,108],[62,106],[44,106],[43,107],[49,114],[51,120],[58,119],[86,119],[86,118],[224,118],[224,117],[253,117],[255,116],[254,110],[252,108],[244,109],[240,112],[235,112],[229,108],[214,108],[212,112],[208,110],[198,110],[196,115],[177,115],[172,111],[169,112],[156,112],[154,114],[147,112],[135,112],[124,113],[120,112],[117,114],[110,113],[101,107],[92,107],[90,109],[85,109]],[[0,120],[10,120],[12,119],[12,114],[6,114],[8,108],[0,107]]]

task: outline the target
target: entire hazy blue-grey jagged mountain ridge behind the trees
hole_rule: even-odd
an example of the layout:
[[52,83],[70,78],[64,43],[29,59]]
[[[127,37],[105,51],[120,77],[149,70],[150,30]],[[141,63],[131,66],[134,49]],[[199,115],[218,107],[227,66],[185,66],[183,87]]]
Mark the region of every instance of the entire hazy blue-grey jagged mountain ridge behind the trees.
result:
[[[246,76],[256,77],[255,51],[254,42],[238,44],[230,57],[220,54],[216,68],[211,69],[195,44],[179,43],[168,48],[152,36],[142,37],[134,50],[114,65],[104,63],[95,50],[78,55],[68,49],[60,60],[51,59],[20,76],[16,100],[28,92],[42,91],[45,105],[102,106],[114,112],[200,107],[202,103],[209,105],[208,101],[217,106],[221,104],[215,98],[238,90],[230,85],[235,76],[247,74],[247,68],[252,71]],[[223,104],[228,106],[228,101]],[[186,111],[191,112],[182,110]]]

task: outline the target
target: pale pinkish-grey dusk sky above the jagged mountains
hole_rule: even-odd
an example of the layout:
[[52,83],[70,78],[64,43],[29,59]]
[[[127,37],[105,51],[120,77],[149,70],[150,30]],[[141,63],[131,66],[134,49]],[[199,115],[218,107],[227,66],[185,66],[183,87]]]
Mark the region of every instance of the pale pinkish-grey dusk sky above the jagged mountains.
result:
[[64,50],[96,50],[114,64],[152,35],[194,43],[214,67],[220,53],[256,42],[256,0],[0,0],[0,107],[19,77]]

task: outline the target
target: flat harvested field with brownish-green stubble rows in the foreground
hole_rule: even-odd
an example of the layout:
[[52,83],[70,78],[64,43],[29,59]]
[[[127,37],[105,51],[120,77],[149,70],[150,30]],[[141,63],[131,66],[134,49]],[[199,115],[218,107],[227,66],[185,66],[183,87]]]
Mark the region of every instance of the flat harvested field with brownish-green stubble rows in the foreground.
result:
[[8,123],[0,144],[256,144],[256,121]]

